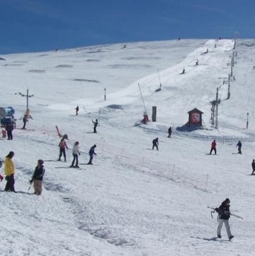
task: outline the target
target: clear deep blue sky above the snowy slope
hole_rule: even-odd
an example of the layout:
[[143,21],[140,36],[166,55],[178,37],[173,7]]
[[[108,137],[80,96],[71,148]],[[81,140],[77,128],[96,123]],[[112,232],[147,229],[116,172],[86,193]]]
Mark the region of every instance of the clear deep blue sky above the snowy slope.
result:
[[255,33],[253,0],[0,0],[0,7],[0,54]]

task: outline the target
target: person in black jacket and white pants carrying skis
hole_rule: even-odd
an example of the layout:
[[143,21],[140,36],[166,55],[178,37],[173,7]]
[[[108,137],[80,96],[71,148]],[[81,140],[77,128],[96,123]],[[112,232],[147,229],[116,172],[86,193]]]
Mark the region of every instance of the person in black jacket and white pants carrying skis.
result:
[[234,236],[230,232],[230,226],[228,223],[228,219],[230,218],[229,203],[230,203],[230,200],[226,198],[225,201],[221,203],[221,206],[218,208],[215,208],[215,210],[219,215],[217,237],[221,238],[221,228],[224,223],[226,227],[226,234],[228,235],[228,239],[231,240]]

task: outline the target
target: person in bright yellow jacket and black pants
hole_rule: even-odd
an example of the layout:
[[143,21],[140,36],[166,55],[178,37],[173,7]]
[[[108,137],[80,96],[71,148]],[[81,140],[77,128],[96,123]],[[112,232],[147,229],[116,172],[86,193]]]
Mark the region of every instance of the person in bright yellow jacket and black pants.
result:
[[15,167],[12,158],[14,157],[14,152],[10,151],[8,155],[5,157],[5,175],[6,175],[6,186],[5,191],[12,191],[16,193],[14,189],[14,173]]

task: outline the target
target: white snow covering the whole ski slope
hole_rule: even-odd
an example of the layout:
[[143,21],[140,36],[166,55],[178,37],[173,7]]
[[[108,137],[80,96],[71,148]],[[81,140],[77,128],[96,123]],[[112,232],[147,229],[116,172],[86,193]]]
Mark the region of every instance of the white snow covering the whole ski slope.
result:
[[[236,81],[219,105],[218,129],[210,119],[216,88],[221,100],[228,95],[223,78],[233,45],[231,39],[189,39],[2,55],[0,106],[14,107],[17,127],[26,98],[15,93],[29,89],[34,96],[27,130],[0,141],[2,159],[15,153],[18,191],[6,193],[6,182],[0,183],[1,255],[254,255],[255,40],[237,41]],[[157,106],[157,122],[135,126],[144,112],[137,83],[150,120]],[[180,131],[195,107],[204,113],[203,129]],[[97,134],[91,118],[99,119]],[[70,138],[67,163],[49,161],[59,154],[55,125]],[[159,151],[151,150],[156,137]],[[207,155],[213,139],[218,154]],[[233,154],[238,140],[242,155]],[[70,165],[75,141],[82,169],[55,168]],[[94,144],[95,165],[82,165]],[[28,181],[40,158],[46,174],[36,196]],[[225,227],[214,241],[217,214],[212,219],[207,206],[226,197],[244,220],[230,218],[231,242]]]

